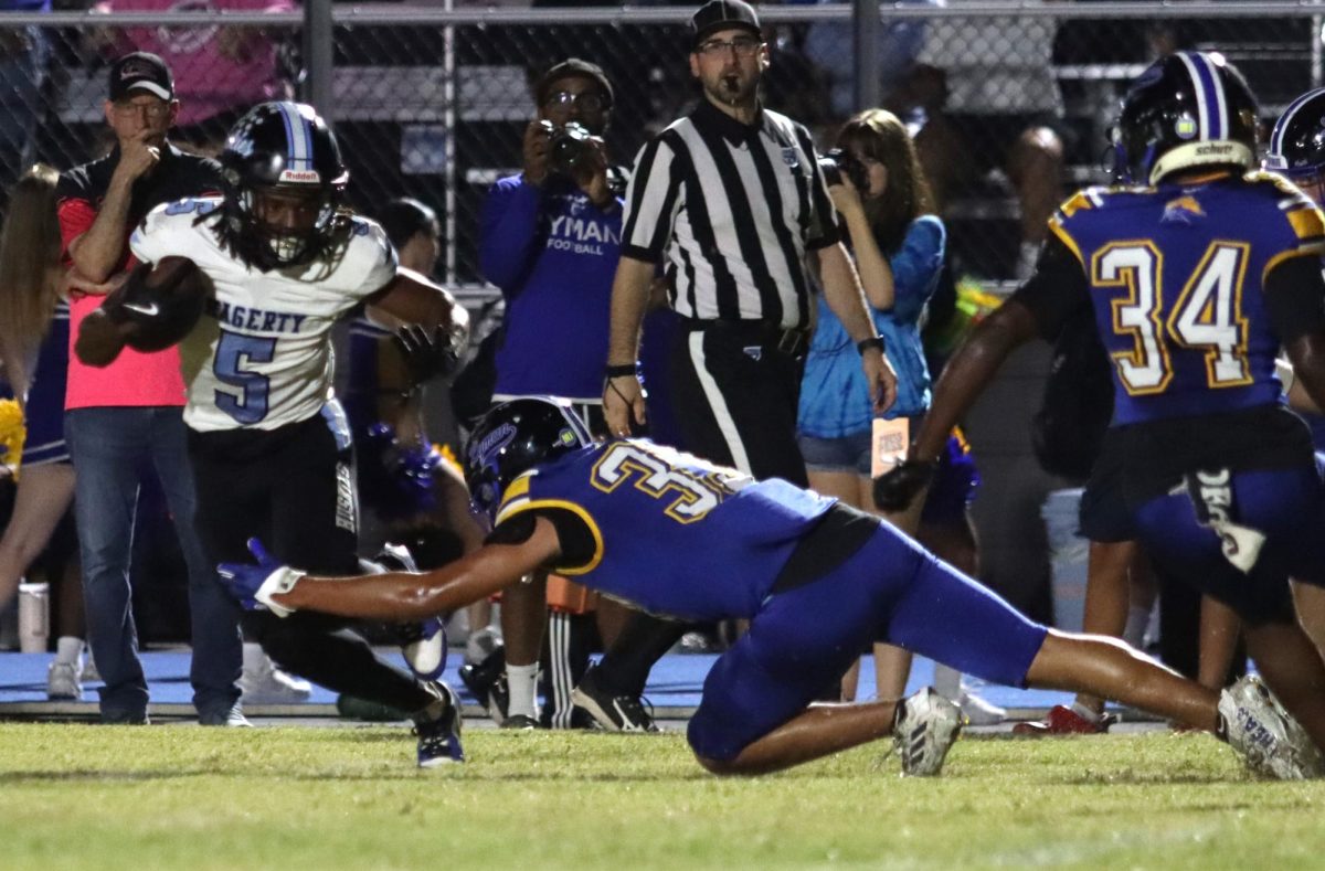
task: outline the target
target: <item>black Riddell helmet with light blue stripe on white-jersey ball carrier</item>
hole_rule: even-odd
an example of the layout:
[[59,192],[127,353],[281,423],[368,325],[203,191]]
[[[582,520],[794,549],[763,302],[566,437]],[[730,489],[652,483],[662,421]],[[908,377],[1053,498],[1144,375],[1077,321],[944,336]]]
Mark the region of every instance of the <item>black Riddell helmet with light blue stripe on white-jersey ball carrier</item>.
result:
[[[227,188],[221,238],[249,266],[303,266],[343,244],[350,222],[342,197],[350,171],[335,134],[311,106],[254,106],[231,130],[219,160]],[[270,224],[264,197],[309,200],[307,217],[295,226]]]

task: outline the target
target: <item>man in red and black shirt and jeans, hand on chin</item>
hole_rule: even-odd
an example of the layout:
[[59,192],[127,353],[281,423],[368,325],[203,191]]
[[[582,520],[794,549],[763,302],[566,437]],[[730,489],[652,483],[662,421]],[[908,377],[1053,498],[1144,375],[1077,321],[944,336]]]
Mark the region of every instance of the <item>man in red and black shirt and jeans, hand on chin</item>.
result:
[[[134,52],[110,68],[106,123],[114,150],[74,167],[56,188],[66,265],[93,282],[135,263],[129,234],[154,206],[220,191],[220,168],[176,150],[166,131],[179,114],[170,68]],[[70,335],[102,302],[70,300]],[[155,467],[188,565],[193,707],[204,725],[248,725],[238,708],[238,609],[221,589],[193,529],[195,492],[184,453],[179,351],[126,349],[93,368],[70,348],[65,436],[78,470],[74,506],[93,658],[106,686],[103,723],[146,723],[147,680],[130,608],[129,563],[140,475]]]

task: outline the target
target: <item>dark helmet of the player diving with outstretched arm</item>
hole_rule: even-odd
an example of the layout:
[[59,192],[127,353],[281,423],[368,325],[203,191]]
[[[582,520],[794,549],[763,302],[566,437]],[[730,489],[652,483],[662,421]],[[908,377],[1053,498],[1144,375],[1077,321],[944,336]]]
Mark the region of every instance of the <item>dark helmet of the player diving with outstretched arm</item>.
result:
[[551,397],[502,402],[480,418],[465,449],[465,483],[474,512],[494,520],[510,482],[592,443],[588,426],[568,402]]

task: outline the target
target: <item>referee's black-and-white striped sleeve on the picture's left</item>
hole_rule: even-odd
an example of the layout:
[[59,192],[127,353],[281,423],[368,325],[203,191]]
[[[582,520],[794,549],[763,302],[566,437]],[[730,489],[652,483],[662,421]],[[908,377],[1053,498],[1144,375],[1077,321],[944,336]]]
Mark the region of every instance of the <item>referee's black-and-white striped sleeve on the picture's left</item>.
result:
[[[678,142],[678,139],[677,139]],[[635,158],[625,188],[621,257],[657,263],[672,238],[672,221],[681,205],[681,161],[668,132],[648,142]]]

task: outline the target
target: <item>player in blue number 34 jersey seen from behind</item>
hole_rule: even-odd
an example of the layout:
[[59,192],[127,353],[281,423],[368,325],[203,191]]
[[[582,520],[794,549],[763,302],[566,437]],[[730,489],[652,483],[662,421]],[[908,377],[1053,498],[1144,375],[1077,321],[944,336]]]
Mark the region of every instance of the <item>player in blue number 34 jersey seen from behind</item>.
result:
[[1325,661],[1288,582],[1325,585],[1325,486],[1275,375],[1283,347],[1325,401],[1325,216],[1252,169],[1256,118],[1218,54],[1150,66],[1118,119],[1126,184],[1059,209],[1035,275],[949,361],[908,462],[876,496],[918,491],[947,428],[1014,348],[1093,314],[1114,380],[1096,469],[1121,470],[1128,537],[1238,612],[1261,676],[1325,748]]

